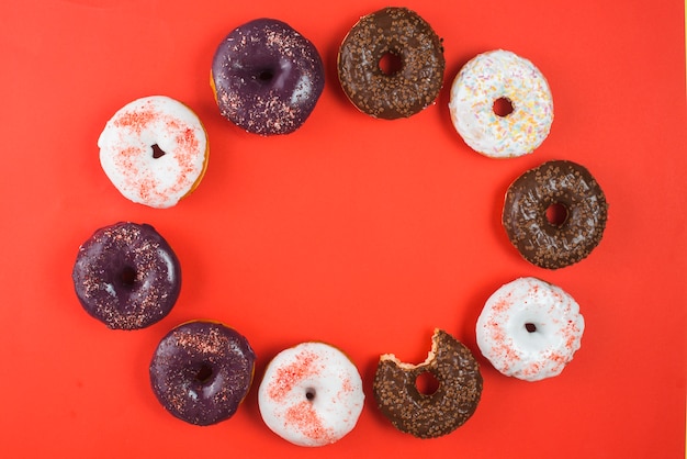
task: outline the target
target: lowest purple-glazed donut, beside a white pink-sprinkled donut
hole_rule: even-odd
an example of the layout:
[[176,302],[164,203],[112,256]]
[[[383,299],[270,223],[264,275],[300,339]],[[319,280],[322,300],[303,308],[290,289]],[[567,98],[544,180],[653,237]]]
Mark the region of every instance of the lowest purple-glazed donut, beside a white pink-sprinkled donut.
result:
[[150,361],[150,385],[174,417],[207,426],[232,417],[252,382],[256,355],[224,324],[192,321],[170,331]]

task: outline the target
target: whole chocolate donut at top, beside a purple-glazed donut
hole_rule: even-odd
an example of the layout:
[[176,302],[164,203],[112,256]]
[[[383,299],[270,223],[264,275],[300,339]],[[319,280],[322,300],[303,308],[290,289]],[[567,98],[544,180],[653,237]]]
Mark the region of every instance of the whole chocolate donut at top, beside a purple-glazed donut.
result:
[[[383,68],[388,58],[390,68]],[[373,117],[412,116],[435,102],[443,85],[441,38],[416,12],[384,8],[361,18],[339,47],[339,82]]]

